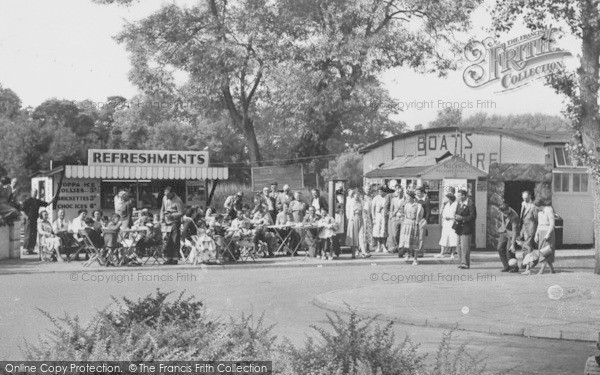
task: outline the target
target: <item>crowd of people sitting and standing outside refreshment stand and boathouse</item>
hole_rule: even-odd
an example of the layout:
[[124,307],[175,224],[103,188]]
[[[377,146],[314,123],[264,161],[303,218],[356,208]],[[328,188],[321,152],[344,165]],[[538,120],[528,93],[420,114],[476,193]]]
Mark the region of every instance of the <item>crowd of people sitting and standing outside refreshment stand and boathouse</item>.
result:
[[[333,260],[340,256],[342,245],[350,248],[352,258],[368,258],[372,252],[397,253],[419,265],[424,238],[428,235],[427,223],[431,204],[427,186],[403,188],[398,181],[387,185],[370,185],[365,189],[336,191],[333,215],[327,199],[318,189],[307,199],[300,191],[292,192],[288,185],[280,190],[277,182],[265,186],[248,204],[242,192],[226,198],[223,209],[185,206],[170,188],[164,190],[161,209],[154,216],[148,209],[135,210],[136,202],[127,190],[114,197],[114,212],[110,217],[94,210],[88,217],[80,210],[70,221],[65,211],[50,223],[45,207],[54,203],[38,197],[32,190],[23,202],[17,200],[18,181],[4,177],[0,180],[0,224],[18,220],[19,212],[25,216],[23,248],[34,252],[37,241],[50,249],[56,260],[77,248],[81,243],[80,231],[88,232],[98,247],[118,247],[119,231],[131,228],[143,230],[137,249],[162,246],[165,264],[177,264],[182,253],[192,253],[194,261],[217,260],[217,253],[230,258],[240,257],[240,249],[251,247],[259,255],[274,256],[277,250],[289,255],[305,251],[308,257]],[[344,194],[346,194],[344,206]],[[506,202],[499,206],[497,251],[503,272],[530,274],[531,269],[546,265],[554,272],[555,213],[543,198],[532,200],[531,192],[522,194],[520,213]],[[136,213],[137,215],[134,215]],[[134,217],[136,220],[134,221]],[[477,217],[475,204],[465,190],[447,188],[441,206],[440,253],[436,258],[458,257],[459,268],[469,269],[474,223]],[[283,241],[283,244],[282,244]],[[227,247],[228,251],[218,252]],[[519,265],[517,250],[523,251]],[[223,249],[221,249],[223,250]],[[133,258],[132,258],[133,259]],[[132,262],[136,260],[133,259]]]

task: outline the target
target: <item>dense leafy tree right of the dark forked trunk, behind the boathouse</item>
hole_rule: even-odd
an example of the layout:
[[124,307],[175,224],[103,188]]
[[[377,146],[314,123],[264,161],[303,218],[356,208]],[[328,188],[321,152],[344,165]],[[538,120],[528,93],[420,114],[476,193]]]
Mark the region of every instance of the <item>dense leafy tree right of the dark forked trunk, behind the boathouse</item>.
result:
[[[466,29],[478,1],[283,3],[294,19],[288,29],[297,35],[299,52],[270,77],[279,88],[270,99],[296,122],[292,154],[311,156],[331,152],[330,139],[364,133],[365,123],[390,123],[381,120],[398,108],[381,86],[382,71],[409,67],[444,75],[455,68],[453,35]],[[402,127],[396,124],[391,132]]]

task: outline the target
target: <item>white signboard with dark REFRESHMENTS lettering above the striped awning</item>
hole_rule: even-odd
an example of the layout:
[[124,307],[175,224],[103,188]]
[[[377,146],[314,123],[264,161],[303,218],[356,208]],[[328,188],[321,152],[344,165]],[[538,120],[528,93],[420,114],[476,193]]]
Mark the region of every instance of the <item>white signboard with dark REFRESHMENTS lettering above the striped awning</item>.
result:
[[90,149],[88,165],[207,167],[208,151]]

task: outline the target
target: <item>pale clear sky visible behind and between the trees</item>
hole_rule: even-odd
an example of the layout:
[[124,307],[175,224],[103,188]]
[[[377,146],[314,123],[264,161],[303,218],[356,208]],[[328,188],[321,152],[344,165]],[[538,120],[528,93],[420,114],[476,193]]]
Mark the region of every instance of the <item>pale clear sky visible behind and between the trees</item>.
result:
[[[15,91],[25,107],[50,98],[99,103],[112,95],[131,98],[137,90],[128,80],[128,55],[113,37],[126,22],[151,14],[162,4],[196,1],[143,0],[123,7],[91,0],[0,0],[0,84]],[[485,30],[489,25],[490,17],[481,8],[473,15],[468,36],[489,36]],[[518,26],[499,41],[525,33]],[[568,39],[563,43],[577,45]],[[574,67],[576,59],[566,62]],[[404,68],[384,73],[382,82],[404,109],[394,118],[409,127],[426,125],[445,106],[464,107],[464,117],[480,111],[560,115],[562,98],[541,81],[504,93],[498,85],[473,89],[463,81],[465,67],[460,65],[446,78]]]

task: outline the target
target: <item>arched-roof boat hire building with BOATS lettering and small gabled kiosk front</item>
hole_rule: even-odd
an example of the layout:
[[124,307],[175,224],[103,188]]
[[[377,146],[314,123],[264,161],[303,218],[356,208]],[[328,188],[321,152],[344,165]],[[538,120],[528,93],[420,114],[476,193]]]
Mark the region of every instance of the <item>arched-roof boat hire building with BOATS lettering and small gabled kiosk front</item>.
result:
[[550,198],[562,218],[557,246],[589,245],[594,242],[590,176],[569,159],[570,139],[567,132],[447,127],[395,135],[360,152],[365,184],[396,180],[404,187],[428,187],[427,249],[439,248],[439,214],[451,186],[464,188],[475,202],[477,248],[495,249],[498,206],[505,200],[520,213],[526,190],[534,198]]

